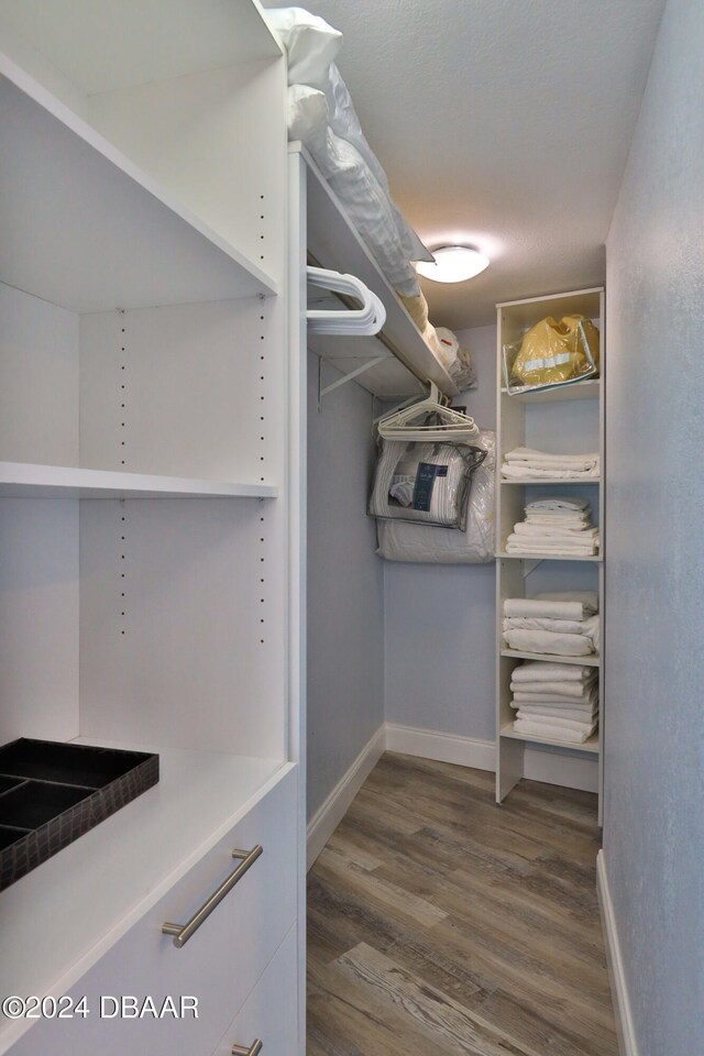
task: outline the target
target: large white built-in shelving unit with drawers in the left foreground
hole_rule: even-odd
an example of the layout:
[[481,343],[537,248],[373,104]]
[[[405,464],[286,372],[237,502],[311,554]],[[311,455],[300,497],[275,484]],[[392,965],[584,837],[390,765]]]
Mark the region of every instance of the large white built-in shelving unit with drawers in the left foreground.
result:
[[305,1048],[285,92],[256,0],[0,0],[0,743],[161,760],[0,893],[0,990],[200,1002],[0,1053]]

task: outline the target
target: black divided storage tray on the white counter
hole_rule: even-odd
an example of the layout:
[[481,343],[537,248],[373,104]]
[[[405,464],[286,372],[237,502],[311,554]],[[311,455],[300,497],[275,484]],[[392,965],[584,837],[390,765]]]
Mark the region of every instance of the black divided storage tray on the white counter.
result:
[[22,737],[0,748],[0,891],[158,781],[158,756]]

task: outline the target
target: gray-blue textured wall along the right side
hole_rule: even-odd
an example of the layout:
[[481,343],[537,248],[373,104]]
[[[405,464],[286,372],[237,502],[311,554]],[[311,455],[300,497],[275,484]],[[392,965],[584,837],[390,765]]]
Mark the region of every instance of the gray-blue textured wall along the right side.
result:
[[703,54],[670,0],[607,246],[604,845],[639,1056],[704,1046]]

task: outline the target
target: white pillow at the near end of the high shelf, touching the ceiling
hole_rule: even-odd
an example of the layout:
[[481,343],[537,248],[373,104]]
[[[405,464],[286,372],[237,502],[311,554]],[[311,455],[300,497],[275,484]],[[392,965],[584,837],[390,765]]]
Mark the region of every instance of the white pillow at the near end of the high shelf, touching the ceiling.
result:
[[304,8],[272,8],[266,18],[286,48],[288,84],[323,82],[342,47],[342,33]]

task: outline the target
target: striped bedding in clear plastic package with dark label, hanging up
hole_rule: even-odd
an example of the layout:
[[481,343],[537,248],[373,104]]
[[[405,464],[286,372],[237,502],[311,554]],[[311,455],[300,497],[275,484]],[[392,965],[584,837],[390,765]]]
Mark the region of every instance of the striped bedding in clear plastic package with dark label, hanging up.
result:
[[384,440],[369,513],[410,524],[466,527],[466,496],[486,451],[468,443]]

